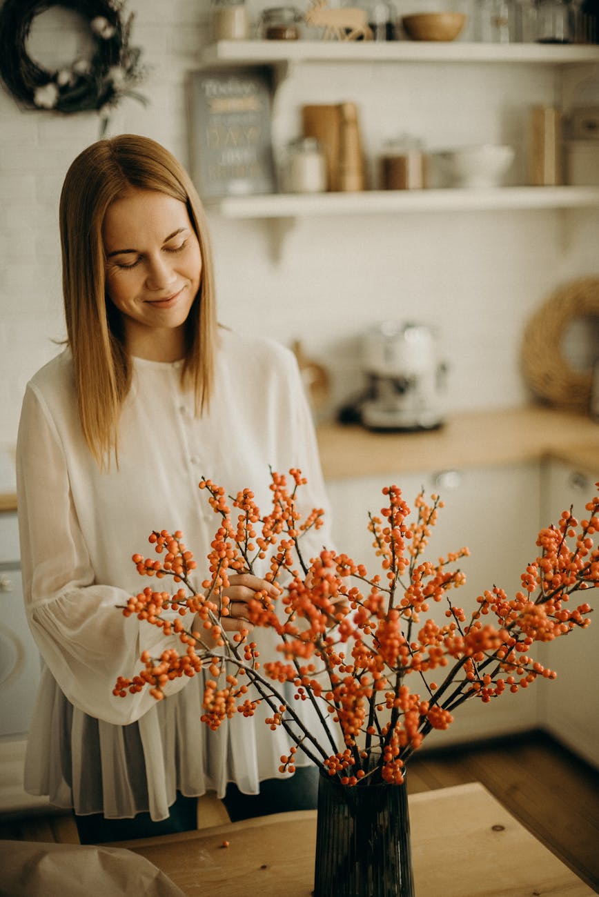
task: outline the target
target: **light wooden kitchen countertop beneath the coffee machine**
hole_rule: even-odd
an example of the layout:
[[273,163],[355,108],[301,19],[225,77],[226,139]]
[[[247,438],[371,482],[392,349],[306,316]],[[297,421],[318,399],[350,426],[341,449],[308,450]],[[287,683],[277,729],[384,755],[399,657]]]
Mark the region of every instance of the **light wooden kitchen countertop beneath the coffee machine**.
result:
[[538,405],[452,414],[438,430],[413,433],[321,424],[317,440],[327,480],[520,464],[547,456],[599,471],[599,423]]

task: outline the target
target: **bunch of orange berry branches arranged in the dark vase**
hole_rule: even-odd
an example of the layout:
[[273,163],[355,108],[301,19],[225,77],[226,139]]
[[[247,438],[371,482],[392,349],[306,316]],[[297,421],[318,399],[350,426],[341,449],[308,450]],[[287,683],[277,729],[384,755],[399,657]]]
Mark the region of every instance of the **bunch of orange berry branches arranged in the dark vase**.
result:
[[[284,475],[271,472],[272,507],[265,515],[253,492],[239,492],[232,500],[236,520],[224,489],[202,480],[199,487],[220,520],[200,590],[194,585],[193,554],[180,532],[152,533],[160,560],[134,555],[140,574],[170,577],[179,585],[175,594],[144,588],[129,598],[123,614],[177,635],[183,647],[167,649],[159,658],[143,652],[143,669],[133,678],[119,676],[115,695],[150,688],[160,700],[170,681],[204,670],[204,723],[216,729],[237,713],[253,716],[264,701],[271,712],[266,724],[290,736],[280,771],[294,771],[300,749],[344,785],[367,777],[400,784],[405,762],[424,737],[446,729],[464,701],[489,703],[527,688],[539,676],[555,678],[534,659],[534,644],[590,624],[590,605],[573,606],[570,598],[599,585],[599,549],[593,541],[599,531],[597,496],[586,504],[586,519],[577,521],[571,510],[564,511],[557,526],[541,530],[537,556],[514,597],[493,586],[466,614],[450,595],[464,586],[456,563],[468,549],[436,562],[424,558],[443,507],[438,496],[429,503],[421,492],[410,522],[401,490],[395,485],[383,490],[386,507],[380,517],[369,515],[380,562],[380,571],[370,574],[332,549],[304,559],[301,538],[322,526],[323,511],[314,509],[301,520],[297,492],[306,480],[296,469],[290,475],[291,489]],[[231,614],[225,594],[229,573],[244,572],[267,580],[278,597],[256,592],[239,631],[231,631],[223,626]],[[445,623],[426,615],[433,602],[445,603]],[[174,613],[164,614],[169,611]],[[190,615],[192,623],[186,625]],[[257,627],[276,632],[280,659],[261,663],[251,640]],[[282,685],[288,683],[294,687],[293,703],[284,697]],[[304,701],[323,724],[324,744],[303,719]]]

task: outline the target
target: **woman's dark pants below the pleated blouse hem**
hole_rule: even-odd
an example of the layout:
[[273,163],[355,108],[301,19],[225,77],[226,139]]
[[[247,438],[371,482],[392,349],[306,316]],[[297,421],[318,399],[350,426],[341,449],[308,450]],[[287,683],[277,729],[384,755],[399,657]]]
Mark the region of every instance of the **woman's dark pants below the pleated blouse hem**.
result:
[[[242,794],[230,784],[222,801],[231,822],[252,816],[285,813],[288,810],[316,810],[318,771],[314,766],[302,767],[289,779],[265,779],[260,794]],[[149,813],[134,819],[105,819],[101,813],[88,816],[75,814],[75,823],[82,844],[102,844],[113,840],[134,840],[190,832],[197,828],[197,797],[177,792],[177,800],[169,807],[169,818],[155,823]]]

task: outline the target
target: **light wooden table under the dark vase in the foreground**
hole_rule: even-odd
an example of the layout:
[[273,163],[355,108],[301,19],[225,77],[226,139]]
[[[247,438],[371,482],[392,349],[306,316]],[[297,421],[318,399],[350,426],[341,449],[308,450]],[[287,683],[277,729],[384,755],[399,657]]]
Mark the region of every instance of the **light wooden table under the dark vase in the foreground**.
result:
[[[283,813],[112,846],[149,859],[188,897],[309,897],[316,818]],[[413,795],[410,822],[417,897],[595,893],[478,782]]]

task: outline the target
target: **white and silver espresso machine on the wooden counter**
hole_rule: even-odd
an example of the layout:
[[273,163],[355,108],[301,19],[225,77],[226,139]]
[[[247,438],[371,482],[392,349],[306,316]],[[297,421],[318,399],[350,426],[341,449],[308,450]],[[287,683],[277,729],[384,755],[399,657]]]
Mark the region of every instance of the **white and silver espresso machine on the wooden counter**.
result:
[[438,361],[429,327],[385,321],[367,332],[362,350],[368,386],[356,410],[363,426],[375,431],[441,426],[447,368]]

